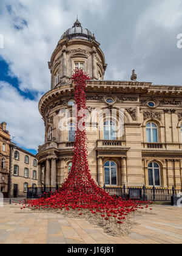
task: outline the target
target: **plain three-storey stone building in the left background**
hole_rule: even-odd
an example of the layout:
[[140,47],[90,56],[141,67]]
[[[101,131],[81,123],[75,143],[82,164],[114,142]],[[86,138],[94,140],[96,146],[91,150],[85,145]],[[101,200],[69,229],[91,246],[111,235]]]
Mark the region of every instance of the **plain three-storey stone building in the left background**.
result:
[[[26,197],[29,186],[38,185],[38,161],[36,156],[16,144],[10,143],[10,196]],[[43,177],[41,177],[43,180]]]

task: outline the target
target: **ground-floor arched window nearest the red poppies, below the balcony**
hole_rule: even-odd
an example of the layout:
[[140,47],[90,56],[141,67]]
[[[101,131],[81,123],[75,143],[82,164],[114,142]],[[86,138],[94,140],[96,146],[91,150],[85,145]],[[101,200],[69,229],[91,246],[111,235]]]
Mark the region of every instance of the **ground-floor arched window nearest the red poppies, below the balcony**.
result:
[[106,185],[117,185],[117,165],[113,161],[104,164],[104,176]]

